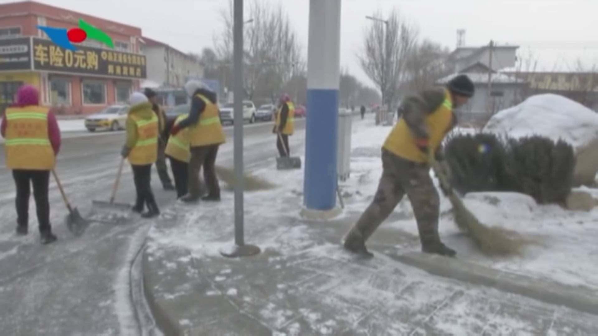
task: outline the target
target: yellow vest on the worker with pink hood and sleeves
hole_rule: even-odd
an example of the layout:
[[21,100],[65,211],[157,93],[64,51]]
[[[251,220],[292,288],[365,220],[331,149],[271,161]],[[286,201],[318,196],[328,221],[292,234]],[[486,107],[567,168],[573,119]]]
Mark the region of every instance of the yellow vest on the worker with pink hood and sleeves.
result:
[[48,136],[48,109],[41,106],[7,108],[5,155],[10,169],[50,170],[56,164]]

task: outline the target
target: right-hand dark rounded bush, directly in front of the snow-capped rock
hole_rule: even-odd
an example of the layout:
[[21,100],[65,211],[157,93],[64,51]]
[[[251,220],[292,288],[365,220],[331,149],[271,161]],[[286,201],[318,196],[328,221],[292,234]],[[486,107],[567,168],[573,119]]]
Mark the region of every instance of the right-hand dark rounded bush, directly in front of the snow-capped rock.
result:
[[565,201],[573,185],[575,154],[563,140],[543,136],[509,139],[507,170],[520,193],[540,204]]

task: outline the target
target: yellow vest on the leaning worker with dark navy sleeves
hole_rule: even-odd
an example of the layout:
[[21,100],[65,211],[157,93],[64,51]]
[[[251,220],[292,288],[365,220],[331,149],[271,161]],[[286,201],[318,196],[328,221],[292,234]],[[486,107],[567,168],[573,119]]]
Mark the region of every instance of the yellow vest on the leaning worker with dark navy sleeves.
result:
[[191,147],[224,143],[226,138],[222,131],[218,106],[208,98],[202,96],[202,94],[198,93],[196,96],[206,103],[206,108],[199,115],[197,123],[189,127]]

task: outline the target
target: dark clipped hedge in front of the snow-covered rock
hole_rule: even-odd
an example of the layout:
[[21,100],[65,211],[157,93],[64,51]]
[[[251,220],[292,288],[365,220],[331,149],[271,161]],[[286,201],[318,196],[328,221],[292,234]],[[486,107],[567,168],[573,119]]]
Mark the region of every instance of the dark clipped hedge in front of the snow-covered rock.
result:
[[572,146],[542,136],[454,135],[447,139],[444,157],[451,184],[460,193],[515,191],[541,204],[559,203],[573,183]]

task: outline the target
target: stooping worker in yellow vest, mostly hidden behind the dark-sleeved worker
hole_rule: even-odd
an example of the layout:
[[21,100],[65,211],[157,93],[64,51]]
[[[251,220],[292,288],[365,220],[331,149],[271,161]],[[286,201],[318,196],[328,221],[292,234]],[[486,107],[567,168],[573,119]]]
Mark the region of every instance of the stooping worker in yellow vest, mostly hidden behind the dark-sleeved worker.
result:
[[[189,117],[189,114],[179,115],[175,125]],[[189,129],[181,130],[176,135],[171,135],[164,150],[166,157],[170,160],[172,176],[175,177],[176,197],[181,198],[187,194],[187,176],[189,161],[191,160],[191,142]]]

